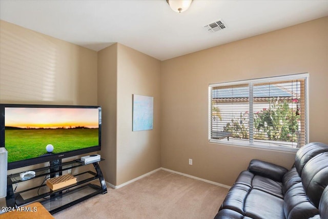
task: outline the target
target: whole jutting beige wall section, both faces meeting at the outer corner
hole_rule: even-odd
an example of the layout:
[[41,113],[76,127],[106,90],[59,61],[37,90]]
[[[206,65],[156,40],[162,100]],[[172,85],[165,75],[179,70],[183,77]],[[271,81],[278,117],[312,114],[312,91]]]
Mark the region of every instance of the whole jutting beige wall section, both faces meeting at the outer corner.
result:
[[[103,107],[100,165],[118,186],[160,167],[160,61],[121,44],[98,52],[98,100]],[[154,97],[153,130],[132,131],[132,94]]]

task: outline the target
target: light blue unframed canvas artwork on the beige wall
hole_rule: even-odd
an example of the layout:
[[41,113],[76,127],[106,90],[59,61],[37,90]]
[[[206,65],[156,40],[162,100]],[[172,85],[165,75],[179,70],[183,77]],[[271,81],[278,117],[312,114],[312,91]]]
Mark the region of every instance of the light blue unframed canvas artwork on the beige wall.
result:
[[132,131],[152,130],[154,97],[133,94]]

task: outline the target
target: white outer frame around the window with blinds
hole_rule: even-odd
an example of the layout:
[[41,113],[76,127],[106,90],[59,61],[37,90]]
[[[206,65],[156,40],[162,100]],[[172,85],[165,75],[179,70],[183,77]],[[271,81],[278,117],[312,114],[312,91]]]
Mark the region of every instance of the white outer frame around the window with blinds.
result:
[[[278,150],[278,151],[291,151],[296,152],[299,148],[289,148],[289,147],[281,147],[274,145],[261,145],[257,143],[251,143],[252,140],[249,140],[248,143],[244,142],[234,142],[234,141],[222,141],[218,139],[211,138],[211,130],[212,130],[212,88],[219,86],[237,86],[241,84],[256,84],[256,83],[264,83],[264,82],[279,82],[279,81],[289,81],[293,79],[304,79],[305,86],[305,112],[304,112],[304,123],[305,123],[305,144],[309,142],[309,73],[301,73],[301,74],[291,74],[291,75],[282,75],[282,76],[273,76],[273,77],[263,77],[256,79],[247,79],[242,81],[234,81],[234,82],[222,82],[216,84],[209,84],[209,94],[208,94],[208,106],[209,106],[209,127],[208,127],[208,139],[209,143],[215,144],[224,144],[224,145],[232,145],[232,146],[242,146],[242,147],[251,147],[251,148],[260,148],[260,149],[270,149],[270,150]],[[250,99],[253,98],[253,94],[250,94]],[[251,109],[250,109],[251,111]],[[251,124],[251,121],[250,121]]]

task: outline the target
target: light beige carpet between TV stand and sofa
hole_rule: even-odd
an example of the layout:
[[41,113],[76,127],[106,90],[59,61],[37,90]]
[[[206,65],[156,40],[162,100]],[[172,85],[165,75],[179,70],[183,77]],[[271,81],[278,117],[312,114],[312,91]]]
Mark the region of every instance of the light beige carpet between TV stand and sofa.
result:
[[67,218],[213,218],[227,188],[159,170],[55,213]]

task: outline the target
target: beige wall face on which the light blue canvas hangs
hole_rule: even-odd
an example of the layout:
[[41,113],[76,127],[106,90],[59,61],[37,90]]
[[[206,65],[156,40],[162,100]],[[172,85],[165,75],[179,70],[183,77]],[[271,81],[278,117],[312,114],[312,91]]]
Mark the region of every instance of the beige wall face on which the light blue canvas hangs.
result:
[[[118,44],[117,181],[160,167],[160,61]],[[132,94],[154,97],[153,130],[132,131]]]

